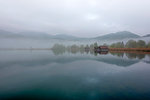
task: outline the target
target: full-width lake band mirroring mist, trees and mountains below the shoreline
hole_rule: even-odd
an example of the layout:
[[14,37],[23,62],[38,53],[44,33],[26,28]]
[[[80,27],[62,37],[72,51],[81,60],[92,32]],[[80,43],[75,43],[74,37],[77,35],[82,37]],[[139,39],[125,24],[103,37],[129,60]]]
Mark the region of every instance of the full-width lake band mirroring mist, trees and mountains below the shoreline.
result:
[[1,51],[0,68],[12,65],[37,66],[46,64],[66,64],[75,61],[93,60],[119,67],[129,67],[140,61],[150,63],[149,54],[125,52],[94,52],[92,50],[48,50],[48,51]]

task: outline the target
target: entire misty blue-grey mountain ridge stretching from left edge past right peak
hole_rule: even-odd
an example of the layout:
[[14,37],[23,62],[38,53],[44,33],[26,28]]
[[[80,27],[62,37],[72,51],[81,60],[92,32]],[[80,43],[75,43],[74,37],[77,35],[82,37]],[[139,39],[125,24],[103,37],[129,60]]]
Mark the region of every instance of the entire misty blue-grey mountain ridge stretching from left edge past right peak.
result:
[[20,32],[20,33],[13,33],[9,31],[0,30],[0,38],[29,38],[29,39],[62,39],[62,40],[87,40],[87,39],[94,39],[94,40],[122,40],[128,38],[140,38],[141,36],[131,33],[128,31],[121,31],[116,33],[110,33],[102,36],[98,36],[95,38],[79,38],[72,35],[66,34],[56,34],[51,35],[45,32]]

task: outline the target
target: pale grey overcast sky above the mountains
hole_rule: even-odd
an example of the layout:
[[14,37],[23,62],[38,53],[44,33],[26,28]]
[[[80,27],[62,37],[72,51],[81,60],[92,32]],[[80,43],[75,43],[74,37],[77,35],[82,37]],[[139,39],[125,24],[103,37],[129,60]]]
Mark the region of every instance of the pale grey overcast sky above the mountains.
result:
[[82,37],[150,33],[150,0],[0,0],[0,29]]

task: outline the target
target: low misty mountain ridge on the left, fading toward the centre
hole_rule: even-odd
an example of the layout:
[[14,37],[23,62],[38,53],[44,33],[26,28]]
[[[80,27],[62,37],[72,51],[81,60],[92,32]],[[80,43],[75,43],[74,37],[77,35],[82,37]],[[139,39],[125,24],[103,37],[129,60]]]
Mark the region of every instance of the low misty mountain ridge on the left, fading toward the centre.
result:
[[51,35],[45,32],[20,32],[13,33],[9,31],[0,30],[0,38],[24,38],[24,39],[61,39],[61,40],[78,40],[80,38],[66,35],[66,34],[57,34]]

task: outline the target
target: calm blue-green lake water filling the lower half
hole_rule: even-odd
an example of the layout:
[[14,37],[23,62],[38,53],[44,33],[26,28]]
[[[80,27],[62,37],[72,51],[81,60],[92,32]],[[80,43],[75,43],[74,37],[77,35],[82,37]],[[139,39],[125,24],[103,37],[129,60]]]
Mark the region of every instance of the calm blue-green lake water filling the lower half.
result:
[[0,100],[150,99],[150,55],[0,51]]

